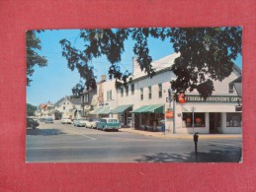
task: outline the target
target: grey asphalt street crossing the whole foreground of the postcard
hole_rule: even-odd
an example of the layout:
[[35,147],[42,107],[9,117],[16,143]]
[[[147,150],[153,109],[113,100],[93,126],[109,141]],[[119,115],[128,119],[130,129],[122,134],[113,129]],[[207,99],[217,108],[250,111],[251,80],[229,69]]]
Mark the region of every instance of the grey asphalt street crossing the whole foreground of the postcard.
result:
[[41,123],[27,129],[28,162],[237,162],[241,138],[200,140],[105,132],[70,124]]

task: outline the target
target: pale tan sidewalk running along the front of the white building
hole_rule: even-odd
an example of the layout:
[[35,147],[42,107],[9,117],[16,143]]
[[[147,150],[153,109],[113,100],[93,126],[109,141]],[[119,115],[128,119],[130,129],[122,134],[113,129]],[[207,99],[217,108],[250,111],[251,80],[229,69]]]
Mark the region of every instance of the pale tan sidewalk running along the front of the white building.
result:
[[[165,132],[165,135],[162,132],[150,132],[143,130],[135,130],[134,128],[121,128],[121,132],[128,132],[134,134],[140,134],[149,137],[165,138],[165,139],[188,139],[192,140],[192,134],[172,134],[170,132]],[[242,134],[198,134],[200,139],[224,139],[224,138],[241,138]]]

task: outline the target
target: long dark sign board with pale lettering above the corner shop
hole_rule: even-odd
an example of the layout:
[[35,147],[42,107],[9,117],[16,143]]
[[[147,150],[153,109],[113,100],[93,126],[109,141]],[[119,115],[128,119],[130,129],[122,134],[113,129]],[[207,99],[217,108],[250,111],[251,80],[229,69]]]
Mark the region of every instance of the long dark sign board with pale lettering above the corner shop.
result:
[[209,96],[204,99],[198,95],[186,95],[187,102],[238,102],[241,101],[239,96]]

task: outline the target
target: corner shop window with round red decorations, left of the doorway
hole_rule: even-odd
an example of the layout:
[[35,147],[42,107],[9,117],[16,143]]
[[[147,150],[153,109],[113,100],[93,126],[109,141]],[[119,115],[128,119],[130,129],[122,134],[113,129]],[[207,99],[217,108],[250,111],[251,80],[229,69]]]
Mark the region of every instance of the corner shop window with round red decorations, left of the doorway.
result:
[[[193,127],[193,113],[182,113],[183,127]],[[194,113],[194,127],[206,127],[206,114],[203,112]]]

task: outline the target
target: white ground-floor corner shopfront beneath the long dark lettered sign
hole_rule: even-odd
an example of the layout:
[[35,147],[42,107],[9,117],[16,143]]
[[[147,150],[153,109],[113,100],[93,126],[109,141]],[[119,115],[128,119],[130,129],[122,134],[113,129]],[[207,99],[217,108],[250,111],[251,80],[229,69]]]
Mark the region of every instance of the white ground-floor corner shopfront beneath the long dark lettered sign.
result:
[[[235,111],[238,96],[187,96],[176,104],[175,133],[241,133],[242,113]],[[180,117],[179,117],[180,116]]]

